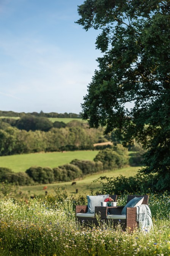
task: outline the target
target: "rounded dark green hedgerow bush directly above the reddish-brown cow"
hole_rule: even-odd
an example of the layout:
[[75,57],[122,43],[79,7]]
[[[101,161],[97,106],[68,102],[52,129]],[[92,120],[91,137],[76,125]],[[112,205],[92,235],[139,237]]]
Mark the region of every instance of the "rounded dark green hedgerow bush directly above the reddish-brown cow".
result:
[[32,166],[26,170],[26,173],[35,182],[40,184],[52,183],[54,181],[54,172],[49,167]]

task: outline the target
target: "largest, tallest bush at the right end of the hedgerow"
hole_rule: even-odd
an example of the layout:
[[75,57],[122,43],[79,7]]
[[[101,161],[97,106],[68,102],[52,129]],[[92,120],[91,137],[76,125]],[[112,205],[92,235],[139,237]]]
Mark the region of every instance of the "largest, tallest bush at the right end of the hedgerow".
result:
[[128,163],[128,158],[124,154],[118,154],[118,152],[114,151],[113,149],[101,150],[94,158],[94,161],[102,162],[104,170],[122,168]]

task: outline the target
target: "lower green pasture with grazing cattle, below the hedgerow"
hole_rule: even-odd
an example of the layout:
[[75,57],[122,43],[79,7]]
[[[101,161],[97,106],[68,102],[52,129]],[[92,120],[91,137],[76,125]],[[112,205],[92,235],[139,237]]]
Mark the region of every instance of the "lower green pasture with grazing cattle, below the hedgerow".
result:
[[[42,185],[36,185],[36,186],[24,186],[21,187],[21,190],[28,194],[28,196],[36,195],[39,197],[44,196],[44,190],[43,187],[47,186],[48,193],[52,193],[52,189],[54,187],[65,187],[68,195],[75,194],[75,197],[78,197],[80,194],[82,196],[86,196],[90,194],[90,189],[99,190],[101,188],[101,184],[99,182],[92,183],[95,179],[99,178],[100,176],[107,176],[107,177],[117,177],[122,174],[123,176],[129,177],[134,176],[137,171],[139,170],[139,167],[126,167],[122,168],[120,170],[114,170],[114,171],[107,171],[104,173],[98,173],[93,174],[91,176],[87,176],[82,180],[76,181],[76,185],[71,185],[72,181],[69,182],[61,182],[61,183],[55,183],[55,184],[42,184]],[[76,189],[78,189],[78,194],[76,194]]]

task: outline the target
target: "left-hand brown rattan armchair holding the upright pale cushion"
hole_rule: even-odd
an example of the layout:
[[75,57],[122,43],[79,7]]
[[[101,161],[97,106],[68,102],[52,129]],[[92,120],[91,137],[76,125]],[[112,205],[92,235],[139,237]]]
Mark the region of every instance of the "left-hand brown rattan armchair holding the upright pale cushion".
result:
[[[109,197],[111,197],[114,202],[116,202],[117,199],[117,195],[109,195]],[[77,205],[76,206],[76,220],[82,225],[84,226],[99,226],[98,220],[96,219],[95,214],[88,214],[88,206],[87,205]],[[83,216],[77,216],[77,215],[81,215],[79,213],[84,213],[82,214]]]

